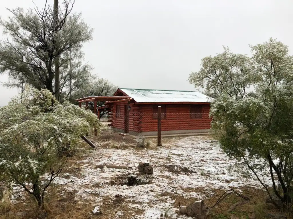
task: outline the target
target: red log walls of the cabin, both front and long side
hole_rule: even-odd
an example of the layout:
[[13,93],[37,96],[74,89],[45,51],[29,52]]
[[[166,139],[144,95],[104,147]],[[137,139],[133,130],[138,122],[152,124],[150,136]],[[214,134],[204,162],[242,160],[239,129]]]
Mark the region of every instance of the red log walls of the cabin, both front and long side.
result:
[[[120,118],[116,118],[116,105],[120,106]],[[124,130],[124,106],[128,103],[117,102],[111,105],[113,110],[110,119],[113,128]],[[130,103],[129,131],[149,132],[157,131],[157,119],[153,119],[154,105],[135,105]],[[190,105],[166,105],[166,119],[161,121],[161,131],[209,129],[209,105],[202,105],[202,118],[190,118]]]

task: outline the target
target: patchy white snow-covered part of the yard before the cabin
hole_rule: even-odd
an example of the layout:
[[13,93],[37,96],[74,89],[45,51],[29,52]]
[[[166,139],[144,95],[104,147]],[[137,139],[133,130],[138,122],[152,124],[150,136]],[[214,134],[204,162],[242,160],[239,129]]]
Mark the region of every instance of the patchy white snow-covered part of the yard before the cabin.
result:
[[[103,200],[122,195],[127,208],[117,208],[117,218],[127,211],[131,218],[157,218],[168,210],[171,218],[178,218],[178,208],[174,207],[174,197],[185,196],[201,199],[203,192],[231,187],[260,187],[253,177],[239,177],[229,171],[235,160],[229,159],[218,147],[217,142],[207,140],[207,136],[192,136],[168,139],[163,147],[155,149],[98,149],[86,159],[73,164],[77,172],[63,173],[54,183],[64,185],[68,191],[76,192],[76,199],[91,200],[103,209]],[[113,179],[125,173],[137,173],[140,162],[148,162],[154,167],[154,179],[147,185],[113,185]],[[98,169],[98,164],[132,166],[126,169]],[[193,190],[190,192],[190,190]],[[165,194],[161,196],[161,194]],[[167,195],[166,195],[167,194]],[[102,210],[103,211],[103,210]],[[140,214],[135,213],[139,211]],[[124,217],[125,218],[125,217]]]

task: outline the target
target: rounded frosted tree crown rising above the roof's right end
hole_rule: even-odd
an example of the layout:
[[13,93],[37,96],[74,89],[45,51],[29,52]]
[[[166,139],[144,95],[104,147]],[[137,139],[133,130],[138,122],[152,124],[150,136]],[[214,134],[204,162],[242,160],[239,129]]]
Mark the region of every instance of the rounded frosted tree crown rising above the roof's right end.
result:
[[200,70],[189,76],[190,84],[204,89],[213,98],[222,94],[241,98],[254,79],[251,59],[231,53],[226,46],[223,53],[203,58]]

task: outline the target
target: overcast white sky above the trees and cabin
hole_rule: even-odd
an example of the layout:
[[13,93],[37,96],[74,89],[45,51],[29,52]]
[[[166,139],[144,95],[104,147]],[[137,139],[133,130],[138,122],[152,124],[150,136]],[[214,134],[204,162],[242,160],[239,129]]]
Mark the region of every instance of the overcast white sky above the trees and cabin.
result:
[[[1,1],[1,17],[9,15],[5,8],[17,6],[34,5]],[[248,44],[273,37],[292,48],[292,9],[292,0],[75,0],[74,5],[94,28],[93,41],[84,45],[94,73],[122,88],[169,90],[194,90],[189,73],[200,68],[203,57],[222,52],[222,45],[250,54]],[[0,106],[16,94],[0,87]]]

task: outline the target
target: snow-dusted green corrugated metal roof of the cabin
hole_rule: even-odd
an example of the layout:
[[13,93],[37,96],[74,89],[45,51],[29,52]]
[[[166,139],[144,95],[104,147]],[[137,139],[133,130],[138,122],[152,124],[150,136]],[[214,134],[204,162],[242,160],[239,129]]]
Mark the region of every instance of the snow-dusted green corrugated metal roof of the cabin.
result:
[[133,98],[136,102],[210,102],[213,98],[197,91],[166,91],[128,89],[120,90]]

